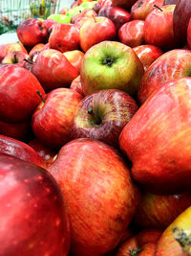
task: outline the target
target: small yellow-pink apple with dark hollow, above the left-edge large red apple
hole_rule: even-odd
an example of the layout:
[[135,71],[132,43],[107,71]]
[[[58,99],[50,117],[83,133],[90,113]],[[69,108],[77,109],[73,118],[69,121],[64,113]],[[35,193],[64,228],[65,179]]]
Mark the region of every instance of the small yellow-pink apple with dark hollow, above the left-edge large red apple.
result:
[[1,61],[4,64],[16,64],[18,66],[23,67],[25,64],[25,58],[29,58],[29,55],[25,54],[21,51],[11,52],[7,54]]

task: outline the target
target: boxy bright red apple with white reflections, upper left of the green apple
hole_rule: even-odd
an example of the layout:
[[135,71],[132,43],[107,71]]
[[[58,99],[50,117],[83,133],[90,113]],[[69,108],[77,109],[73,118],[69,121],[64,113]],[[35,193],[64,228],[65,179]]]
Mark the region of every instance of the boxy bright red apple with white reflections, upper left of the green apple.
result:
[[49,36],[49,44],[52,49],[61,53],[79,49],[79,30],[74,24],[53,25],[53,31]]

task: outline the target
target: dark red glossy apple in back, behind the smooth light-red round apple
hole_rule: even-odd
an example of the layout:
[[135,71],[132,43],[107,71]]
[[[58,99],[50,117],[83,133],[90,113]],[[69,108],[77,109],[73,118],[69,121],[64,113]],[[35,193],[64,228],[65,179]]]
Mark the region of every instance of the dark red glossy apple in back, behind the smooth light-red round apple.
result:
[[130,12],[119,7],[103,7],[99,10],[98,16],[110,18],[113,21],[116,30],[130,20]]

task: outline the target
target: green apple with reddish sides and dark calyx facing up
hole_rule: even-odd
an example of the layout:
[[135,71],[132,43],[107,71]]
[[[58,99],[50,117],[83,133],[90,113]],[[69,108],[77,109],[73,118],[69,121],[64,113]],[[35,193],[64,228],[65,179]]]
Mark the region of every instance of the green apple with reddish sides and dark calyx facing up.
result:
[[117,41],[102,41],[89,49],[81,64],[84,95],[119,89],[137,96],[144,68],[132,48]]

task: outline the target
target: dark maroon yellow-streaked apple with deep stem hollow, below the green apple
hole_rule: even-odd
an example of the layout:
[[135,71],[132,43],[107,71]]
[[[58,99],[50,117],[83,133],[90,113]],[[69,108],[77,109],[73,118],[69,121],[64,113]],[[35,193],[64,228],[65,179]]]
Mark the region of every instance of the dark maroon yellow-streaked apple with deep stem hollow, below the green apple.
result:
[[86,96],[78,105],[71,136],[91,138],[118,147],[118,137],[138,110],[135,100],[117,89],[100,90]]

